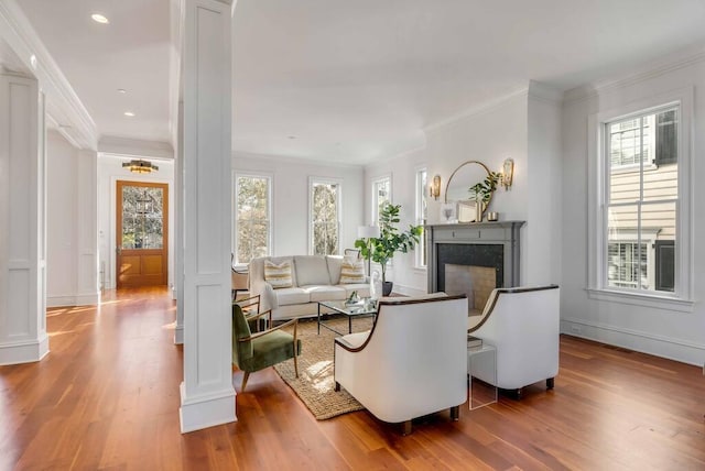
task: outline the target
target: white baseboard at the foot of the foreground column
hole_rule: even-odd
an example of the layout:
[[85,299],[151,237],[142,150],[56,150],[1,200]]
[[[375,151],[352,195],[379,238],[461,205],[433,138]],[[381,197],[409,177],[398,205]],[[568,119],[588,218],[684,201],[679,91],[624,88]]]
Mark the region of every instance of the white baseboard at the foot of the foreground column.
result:
[[186,397],[185,385],[181,383],[180,392],[178,418],[182,434],[229,424],[238,419],[235,415],[236,394],[232,387],[214,394]]

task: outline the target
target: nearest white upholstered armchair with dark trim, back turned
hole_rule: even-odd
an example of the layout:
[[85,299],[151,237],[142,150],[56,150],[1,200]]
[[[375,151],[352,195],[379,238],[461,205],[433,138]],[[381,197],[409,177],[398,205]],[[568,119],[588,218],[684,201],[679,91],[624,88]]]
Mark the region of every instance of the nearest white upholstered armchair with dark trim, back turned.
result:
[[384,298],[368,332],[335,339],[336,391],[377,418],[402,423],[467,399],[467,298]]

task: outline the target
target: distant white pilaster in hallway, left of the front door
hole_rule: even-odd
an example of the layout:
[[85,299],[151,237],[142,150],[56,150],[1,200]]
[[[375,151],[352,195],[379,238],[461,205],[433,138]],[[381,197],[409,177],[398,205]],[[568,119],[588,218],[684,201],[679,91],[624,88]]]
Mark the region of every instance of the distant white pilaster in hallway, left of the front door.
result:
[[95,305],[100,302],[98,286],[98,153],[80,151],[77,166],[76,304]]

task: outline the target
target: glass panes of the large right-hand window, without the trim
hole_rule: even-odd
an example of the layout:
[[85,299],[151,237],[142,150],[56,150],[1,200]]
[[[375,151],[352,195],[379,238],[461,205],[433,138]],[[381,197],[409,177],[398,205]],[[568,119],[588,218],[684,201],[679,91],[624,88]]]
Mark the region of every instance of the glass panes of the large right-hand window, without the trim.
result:
[[[675,261],[663,253],[657,264],[655,244],[677,237],[677,113],[669,107],[605,123],[609,287],[674,289],[675,273],[668,267]],[[657,272],[664,277],[660,285]]]

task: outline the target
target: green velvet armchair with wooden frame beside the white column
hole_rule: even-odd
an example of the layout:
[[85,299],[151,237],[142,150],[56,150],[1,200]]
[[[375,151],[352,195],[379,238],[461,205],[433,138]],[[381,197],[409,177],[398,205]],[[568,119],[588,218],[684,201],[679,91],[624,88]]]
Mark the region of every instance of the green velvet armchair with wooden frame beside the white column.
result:
[[[247,315],[239,304],[232,304],[232,364],[245,372],[240,392],[245,392],[250,373],[281,363],[290,358],[294,359],[294,372],[299,377],[296,361],[296,357],[301,354],[301,340],[296,338],[299,319],[292,319],[274,328],[252,333],[250,330],[251,321],[268,314],[271,316],[270,310]],[[294,327],[293,333],[282,330],[289,326]]]

